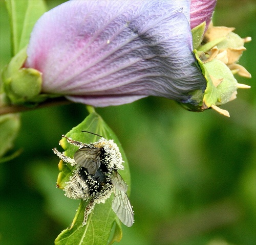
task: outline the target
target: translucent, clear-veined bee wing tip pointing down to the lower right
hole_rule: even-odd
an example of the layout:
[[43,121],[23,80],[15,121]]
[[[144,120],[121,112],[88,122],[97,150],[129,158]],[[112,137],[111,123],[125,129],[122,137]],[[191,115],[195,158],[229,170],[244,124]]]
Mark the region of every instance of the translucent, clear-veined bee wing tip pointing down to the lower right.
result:
[[114,186],[114,200],[112,202],[112,209],[116,213],[121,222],[131,227],[134,223],[133,208],[126,192],[117,189]]

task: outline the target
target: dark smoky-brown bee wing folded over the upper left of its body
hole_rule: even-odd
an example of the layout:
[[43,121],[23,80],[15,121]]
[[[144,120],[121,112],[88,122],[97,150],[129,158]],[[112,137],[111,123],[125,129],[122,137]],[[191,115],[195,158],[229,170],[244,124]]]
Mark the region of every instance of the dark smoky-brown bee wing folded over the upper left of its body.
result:
[[85,167],[88,173],[94,175],[100,166],[100,149],[80,148],[74,154],[75,162],[81,167]]

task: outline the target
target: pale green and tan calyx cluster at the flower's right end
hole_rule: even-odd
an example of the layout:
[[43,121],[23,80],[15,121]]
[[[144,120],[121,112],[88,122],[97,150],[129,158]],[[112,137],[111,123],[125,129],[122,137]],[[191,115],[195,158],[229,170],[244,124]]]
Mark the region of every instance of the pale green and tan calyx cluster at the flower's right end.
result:
[[237,64],[246,50],[244,43],[251,38],[241,38],[233,30],[234,28],[214,27],[211,23],[202,43],[194,46],[194,54],[207,81],[198,111],[212,108],[229,117],[228,111],[219,106],[236,99],[238,88],[250,88],[248,85],[239,84],[233,75],[251,78],[250,73]]

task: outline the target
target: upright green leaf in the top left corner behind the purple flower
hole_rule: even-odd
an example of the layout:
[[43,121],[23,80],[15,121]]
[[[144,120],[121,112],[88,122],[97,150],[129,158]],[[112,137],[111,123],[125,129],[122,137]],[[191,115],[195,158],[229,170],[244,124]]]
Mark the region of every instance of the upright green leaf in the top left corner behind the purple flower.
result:
[[8,0],[6,7],[11,22],[12,53],[16,55],[28,44],[35,22],[47,8],[42,0]]

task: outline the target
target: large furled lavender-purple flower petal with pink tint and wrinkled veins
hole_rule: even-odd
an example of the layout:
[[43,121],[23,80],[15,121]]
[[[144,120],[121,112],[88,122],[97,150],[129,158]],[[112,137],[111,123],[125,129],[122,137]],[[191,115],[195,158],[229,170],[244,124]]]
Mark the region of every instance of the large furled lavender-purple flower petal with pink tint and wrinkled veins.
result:
[[37,21],[26,67],[42,72],[42,92],[93,106],[148,95],[194,103],[206,81],[189,11],[190,1],[66,2]]

